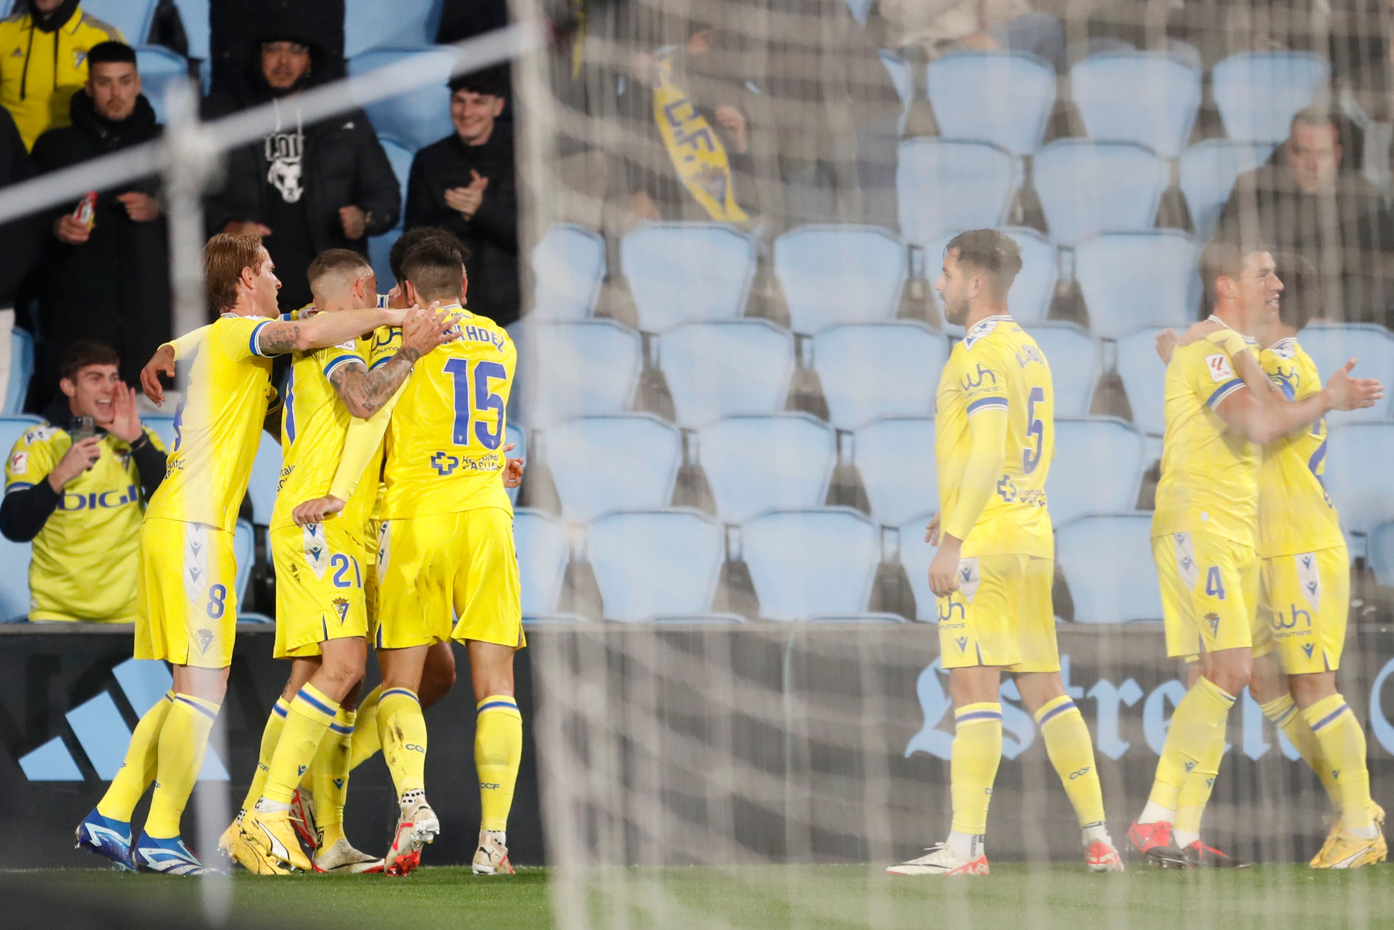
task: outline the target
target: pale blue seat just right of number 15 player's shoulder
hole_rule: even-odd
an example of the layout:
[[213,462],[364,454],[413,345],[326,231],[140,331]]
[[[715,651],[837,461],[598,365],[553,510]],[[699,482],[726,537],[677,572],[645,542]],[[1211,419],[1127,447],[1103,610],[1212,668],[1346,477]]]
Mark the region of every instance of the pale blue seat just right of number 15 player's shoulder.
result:
[[625,413],[634,404],[644,367],[643,339],[612,319],[530,326],[535,364],[520,365],[530,407],[521,420],[545,428],[572,417]]

